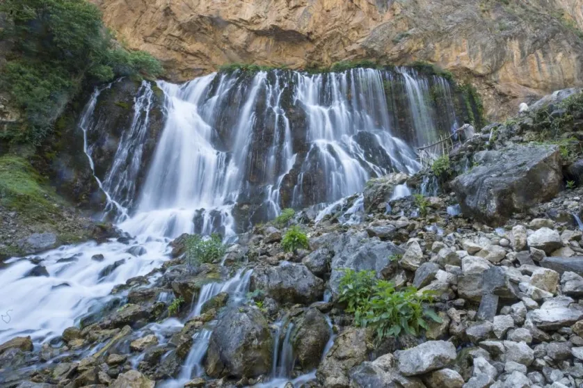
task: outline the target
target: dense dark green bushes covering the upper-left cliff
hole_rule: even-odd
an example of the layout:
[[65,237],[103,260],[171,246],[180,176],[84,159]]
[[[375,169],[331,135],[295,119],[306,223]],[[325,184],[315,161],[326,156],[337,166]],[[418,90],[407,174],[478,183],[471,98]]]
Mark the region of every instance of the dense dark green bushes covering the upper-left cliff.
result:
[[0,139],[38,145],[83,87],[162,73],[150,54],[119,47],[99,9],[86,0],[6,0],[0,13],[7,18],[0,39],[12,47],[0,69],[0,86],[26,120]]

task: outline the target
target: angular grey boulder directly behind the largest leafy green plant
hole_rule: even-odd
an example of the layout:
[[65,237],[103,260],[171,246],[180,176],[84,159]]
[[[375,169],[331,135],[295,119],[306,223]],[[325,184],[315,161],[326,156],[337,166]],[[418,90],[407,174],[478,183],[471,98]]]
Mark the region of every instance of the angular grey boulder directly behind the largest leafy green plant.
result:
[[391,273],[390,257],[404,254],[404,250],[390,241],[378,237],[369,238],[367,232],[346,232],[330,242],[334,251],[330,273],[330,288],[338,293],[344,269],[374,270],[378,277]]

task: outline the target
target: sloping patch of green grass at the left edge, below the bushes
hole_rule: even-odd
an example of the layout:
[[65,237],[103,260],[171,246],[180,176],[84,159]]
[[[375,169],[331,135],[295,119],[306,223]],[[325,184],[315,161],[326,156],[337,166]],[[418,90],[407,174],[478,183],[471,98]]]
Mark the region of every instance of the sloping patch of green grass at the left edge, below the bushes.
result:
[[50,220],[56,202],[60,200],[31,163],[15,155],[0,157],[0,206]]

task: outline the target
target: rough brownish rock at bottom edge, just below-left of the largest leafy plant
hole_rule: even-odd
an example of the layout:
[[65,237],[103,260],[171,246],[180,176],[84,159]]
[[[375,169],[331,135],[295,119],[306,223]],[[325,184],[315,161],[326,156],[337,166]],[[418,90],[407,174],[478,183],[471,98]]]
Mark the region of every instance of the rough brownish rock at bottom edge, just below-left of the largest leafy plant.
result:
[[366,329],[347,328],[339,334],[318,367],[318,382],[324,387],[349,387],[349,371],[367,360],[370,340]]

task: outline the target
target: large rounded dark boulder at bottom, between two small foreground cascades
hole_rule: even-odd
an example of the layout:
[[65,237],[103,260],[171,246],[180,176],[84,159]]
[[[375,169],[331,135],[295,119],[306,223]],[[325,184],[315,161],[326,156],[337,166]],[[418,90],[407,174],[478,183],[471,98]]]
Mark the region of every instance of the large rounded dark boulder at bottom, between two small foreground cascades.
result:
[[206,371],[211,377],[256,377],[271,370],[273,339],[259,309],[231,307],[218,319],[209,341]]

